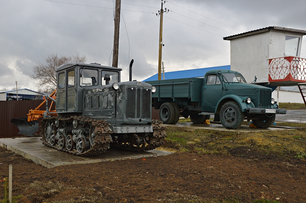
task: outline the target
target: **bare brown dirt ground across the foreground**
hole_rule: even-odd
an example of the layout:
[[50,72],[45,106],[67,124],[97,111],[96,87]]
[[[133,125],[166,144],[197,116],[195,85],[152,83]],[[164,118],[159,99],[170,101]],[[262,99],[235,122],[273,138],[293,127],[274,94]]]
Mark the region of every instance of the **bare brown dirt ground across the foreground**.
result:
[[[47,169],[0,148],[0,179],[13,165],[18,202],[305,202],[306,161],[238,147],[230,154],[162,157]],[[0,199],[3,199],[0,182]]]

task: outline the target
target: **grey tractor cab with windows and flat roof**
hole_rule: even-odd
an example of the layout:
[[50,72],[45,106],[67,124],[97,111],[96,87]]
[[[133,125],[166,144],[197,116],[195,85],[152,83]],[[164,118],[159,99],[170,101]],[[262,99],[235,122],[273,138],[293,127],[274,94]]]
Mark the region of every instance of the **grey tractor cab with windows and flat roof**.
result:
[[82,113],[83,89],[120,82],[121,68],[99,63],[66,63],[56,70],[56,110],[59,114]]

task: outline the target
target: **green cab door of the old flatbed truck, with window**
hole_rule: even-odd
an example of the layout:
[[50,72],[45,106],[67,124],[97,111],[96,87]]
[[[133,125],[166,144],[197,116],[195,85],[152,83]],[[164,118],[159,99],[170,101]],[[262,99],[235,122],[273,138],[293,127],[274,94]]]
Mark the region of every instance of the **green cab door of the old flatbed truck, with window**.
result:
[[223,96],[221,80],[217,74],[209,74],[204,82],[202,111],[215,112],[217,103]]

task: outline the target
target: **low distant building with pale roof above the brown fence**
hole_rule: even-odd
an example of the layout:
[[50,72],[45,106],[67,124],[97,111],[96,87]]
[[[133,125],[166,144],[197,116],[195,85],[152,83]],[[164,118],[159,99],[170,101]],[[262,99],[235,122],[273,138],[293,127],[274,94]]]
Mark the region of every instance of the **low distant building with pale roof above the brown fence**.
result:
[[18,100],[42,100],[43,94],[39,92],[35,92],[30,89],[18,89],[15,90],[8,90],[0,92],[0,101],[6,100],[17,100],[17,93],[18,93]]

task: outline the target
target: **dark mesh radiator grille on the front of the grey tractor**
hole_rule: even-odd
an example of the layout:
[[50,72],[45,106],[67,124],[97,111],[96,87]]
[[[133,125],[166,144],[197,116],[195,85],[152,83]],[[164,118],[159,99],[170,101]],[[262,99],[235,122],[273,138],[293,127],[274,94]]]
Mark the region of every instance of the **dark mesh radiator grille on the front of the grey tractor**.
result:
[[127,88],[126,118],[150,118],[151,89]]

